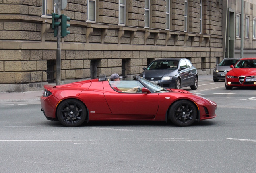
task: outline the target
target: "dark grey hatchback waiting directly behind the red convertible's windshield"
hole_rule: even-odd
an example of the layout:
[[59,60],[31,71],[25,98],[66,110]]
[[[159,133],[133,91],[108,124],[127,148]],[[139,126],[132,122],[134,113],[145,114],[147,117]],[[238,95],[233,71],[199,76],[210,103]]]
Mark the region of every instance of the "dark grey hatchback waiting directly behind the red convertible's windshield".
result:
[[143,69],[141,77],[164,88],[180,89],[190,86],[195,90],[198,87],[197,70],[188,59],[158,59]]

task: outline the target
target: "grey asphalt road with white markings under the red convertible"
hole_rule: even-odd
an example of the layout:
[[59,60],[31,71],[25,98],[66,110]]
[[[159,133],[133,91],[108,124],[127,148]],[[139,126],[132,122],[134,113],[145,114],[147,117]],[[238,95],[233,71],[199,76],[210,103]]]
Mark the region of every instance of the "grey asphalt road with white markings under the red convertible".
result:
[[91,122],[63,127],[38,103],[0,104],[1,173],[254,173],[256,90],[200,80],[190,90],[217,103],[217,117],[190,127]]

